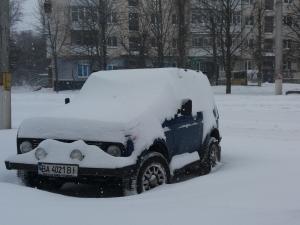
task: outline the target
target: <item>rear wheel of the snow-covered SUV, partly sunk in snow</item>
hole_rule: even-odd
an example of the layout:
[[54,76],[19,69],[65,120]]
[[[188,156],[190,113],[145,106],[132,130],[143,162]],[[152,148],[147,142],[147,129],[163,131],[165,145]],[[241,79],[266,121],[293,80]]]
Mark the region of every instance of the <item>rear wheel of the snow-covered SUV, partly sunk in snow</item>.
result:
[[201,157],[201,174],[204,175],[210,173],[211,169],[214,168],[220,161],[221,148],[219,146],[219,141],[216,138],[211,137]]

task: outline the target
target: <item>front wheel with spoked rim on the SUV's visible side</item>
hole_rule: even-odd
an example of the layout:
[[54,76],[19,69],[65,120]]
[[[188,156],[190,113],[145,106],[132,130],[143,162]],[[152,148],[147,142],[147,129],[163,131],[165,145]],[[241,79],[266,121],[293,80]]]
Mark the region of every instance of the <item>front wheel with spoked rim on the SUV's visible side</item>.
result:
[[136,191],[138,194],[169,183],[170,169],[165,157],[157,152],[151,152],[144,157],[140,166]]

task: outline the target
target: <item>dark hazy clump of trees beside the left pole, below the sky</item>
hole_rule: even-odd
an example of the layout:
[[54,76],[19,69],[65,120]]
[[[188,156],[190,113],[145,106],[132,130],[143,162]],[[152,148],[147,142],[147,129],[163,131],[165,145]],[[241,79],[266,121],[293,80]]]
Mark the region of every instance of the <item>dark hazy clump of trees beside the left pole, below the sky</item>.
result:
[[[46,40],[33,31],[18,31],[23,19],[26,0],[10,0],[10,70],[13,84],[41,84],[39,74],[46,73],[49,60],[46,57]],[[47,80],[42,81],[47,82]]]

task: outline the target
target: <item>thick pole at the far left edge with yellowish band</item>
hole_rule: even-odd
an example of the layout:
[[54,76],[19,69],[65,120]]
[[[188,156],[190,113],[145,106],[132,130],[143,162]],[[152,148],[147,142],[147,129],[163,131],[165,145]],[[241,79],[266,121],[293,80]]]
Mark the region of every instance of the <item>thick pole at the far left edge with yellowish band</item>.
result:
[[9,73],[9,0],[0,1],[0,129],[11,129]]

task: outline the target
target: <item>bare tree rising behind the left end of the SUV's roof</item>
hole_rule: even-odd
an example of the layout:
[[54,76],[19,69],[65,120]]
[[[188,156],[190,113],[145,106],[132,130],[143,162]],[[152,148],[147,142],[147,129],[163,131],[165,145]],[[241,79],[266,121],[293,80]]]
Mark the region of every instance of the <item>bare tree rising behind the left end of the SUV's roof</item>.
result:
[[108,46],[117,41],[112,35],[122,19],[118,6],[113,0],[77,0],[72,6],[72,22],[80,28],[72,32],[81,36],[83,54],[89,55],[92,65],[100,70],[107,69]]

